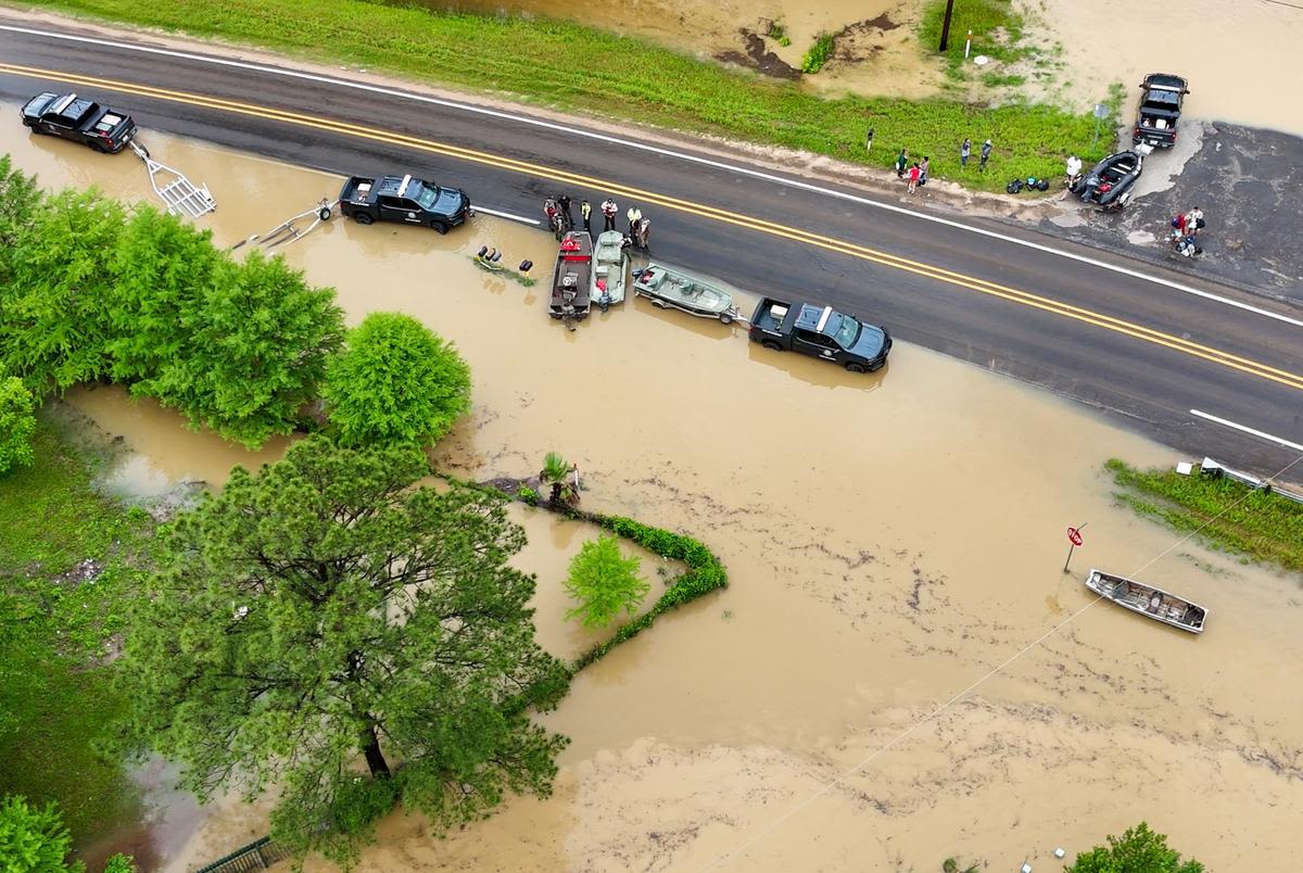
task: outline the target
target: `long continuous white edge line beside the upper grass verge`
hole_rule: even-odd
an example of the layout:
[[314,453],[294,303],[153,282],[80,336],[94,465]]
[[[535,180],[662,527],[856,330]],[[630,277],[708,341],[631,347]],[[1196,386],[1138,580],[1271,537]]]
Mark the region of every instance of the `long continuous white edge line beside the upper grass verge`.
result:
[[1149,283],[1153,283],[1153,284],[1157,284],[1157,285],[1164,285],[1166,288],[1171,288],[1174,291],[1179,291],[1179,292],[1186,293],[1186,294],[1192,294],[1195,297],[1201,297],[1204,300],[1210,300],[1210,301],[1214,301],[1214,302],[1218,302],[1218,304],[1222,304],[1222,305],[1226,305],[1226,306],[1233,306],[1235,309],[1242,309],[1244,311],[1253,313],[1255,315],[1261,315],[1264,318],[1272,318],[1274,321],[1283,322],[1286,324],[1293,324],[1294,327],[1303,327],[1303,321],[1300,321],[1300,319],[1290,318],[1289,315],[1282,315],[1280,313],[1273,313],[1273,311],[1270,311],[1268,309],[1261,309],[1259,306],[1253,306],[1251,304],[1244,304],[1244,302],[1240,302],[1238,300],[1231,300],[1229,297],[1222,297],[1220,294],[1213,294],[1213,293],[1207,292],[1207,291],[1199,291],[1197,288],[1191,288],[1190,285],[1183,285],[1183,284],[1181,284],[1178,281],[1171,281],[1170,279],[1162,279],[1160,276],[1151,276],[1151,275],[1143,274],[1143,272],[1140,272],[1138,270],[1131,270],[1130,267],[1122,267],[1122,266],[1118,266],[1118,265],[1108,263],[1105,261],[1098,261],[1096,258],[1089,258],[1087,255],[1075,254],[1072,251],[1063,251],[1062,249],[1055,249],[1053,246],[1042,245],[1040,242],[1032,242],[1029,240],[1020,240],[1020,238],[1018,238],[1015,236],[1007,236],[1005,233],[998,233],[995,231],[988,231],[985,228],[972,227],[969,224],[963,224],[960,222],[952,222],[950,219],[945,219],[945,218],[941,218],[938,215],[928,215],[926,212],[916,212],[915,210],[908,210],[908,208],[904,208],[902,206],[893,206],[890,203],[882,203],[882,202],[878,202],[878,201],[869,199],[866,197],[859,197],[856,194],[850,194],[847,192],[839,192],[839,190],[833,189],[833,188],[822,188],[820,185],[814,185],[814,184],[810,184],[810,182],[803,182],[803,181],[799,181],[799,180],[795,180],[795,179],[787,179],[784,176],[775,176],[773,173],[766,173],[766,172],[758,171],[758,169],[749,169],[747,167],[739,167],[736,164],[727,164],[727,163],[721,162],[721,160],[711,160],[710,158],[701,158],[698,155],[689,155],[687,152],[674,151],[671,149],[662,149],[659,146],[652,146],[652,145],[648,145],[648,143],[644,143],[644,142],[636,142],[636,141],[632,141],[632,139],[622,139],[619,137],[612,137],[612,136],[609,136],[609,134],[605,134],[605,133],[597,133],[594,130],[584,130],[581,128],[575,128],[575,126],[571,126],[568,124],[556,124],[556,122],[552,122],[552,121],[543,121],[542,119],[532,119],[529,116],[513,115],[511,112],[503,112],[500,109],[489,109],[489,108],[485,108],[485,107],[472,106],[472,104],[468,104],[468,103],[457,103],[456,100],[444,100],[442,98],[429,96],[429,95],[425,95],[425,94],[412,94],[409,91],[400,91],[397,89],[383,87],[383,86],[379,86],[379,85],[366,85],[365,82],[352,82],[349,79],[335,78],[332,76],[318,76],[315,73],[305,73],[302,70],[283,69],[283,68],[279,68],[279,66],[267,66],[267,65],[263,65],[263,64],[250,64],[248,61],[236,61],[236,60],[229,60],[229,59],[225,59],[225,57],[210,57],[207,55],[195,55],[195,53],[192,53],[192,52],[181,52],[181,51],[175,51],[175,50],[171,50],[171,48],[155,48],[152,46],[134,46],[134,44],[130,44],[130,43],[121,43],[121,42],[112,40],[112,39],[96,39],[94,36],[74,36],[72,34],[55,34],[55,33],[50,33],[47,30],[36,30],[36,29],[33,29],[33,27],[20,27],[17,25],[0,25],[0,30],[9,30],[9,31],[13,31],[13,33],[21,33],[21,34],[31,34],[31,35],[35,35],[35,36],[46,36],[48,39],[61,39],[61,40],[65,40],[65,42],[90,43],[90,44],[95,44],[95,46],[109,46],[112,48],[122,48],[122,50],[126,50],[126,51],[145,52],[145,53],[150,53],[150,55],[163,55],[163,56],[167,56],[167,57],[181,57],[181,59],[185,59],[185,60],[194,60],[194,61],[201,61],[201,63],[205,63],[205,64],[215,64],[215,65],[220,65],[220,66],[235,66],[235,68],[238,68],[238,69],[246,69],[246,70],[253,70],[253,72],[258,72],[258,73],[271,73],[274,76],[284,76],[284,77],[288,77],[288,78],[298,78],[298,79],[306,79],[306,81],[310,81],[310,82],[322,82],[322,83],[326,83],[326,85],[336,85],[339,87],[348,87],[348,89],[354,89],[354,90],[358,90],[358,91],[370,91],[373,94],[384,94],[387,96],[397,96],[397,98],[403,98],[403,99],[407,99],[407,100],[417,100],[420,103],[429,103],[429,104],[433,104],[433,106],[442,106],[442,107],[446,107],[446,108],[450,108],[450,109],[460,109],[463,112],[470,112],[470,113],[476,113],[476,115],[490,116],[490,117],[494,117],[494,119],[503,119],[503,120],[515,121],[515,122],[519,122],[519,124],[533,125],[536,128],[545,128],[547,130],[556,130],[556,132],[571,134],[571,136],[585,137],[585,138],[597,139],[597,141],[601,141],[601,142],[609,142],[609,143],[618,145],[618,146],[624,146],[624,147],[628,147],[628,149],[636,149],[636,150],[641,150],[641,151],[649,151],[649,152],[653,152],[653,154],[657,154],[657,155],[662,155],[662,156],[666,156],[666,158],[674,158],[676,160],[684,160],[684,162],[689,162],[689,163],[694,163],[694,164],[701,164],[701,165],[705,165],[705,167],[714,167],[717,169],[724,169],[724,171],[728,171],[728,172],[732,172],[732,173],[739,173],[741,176],[751,176],[753,179],[760,179],[760,180],[764,180],[764,181],[778,182],[780,185],[787,185],[787,186],[791,186],[791,188],[800,188],[803,190],[808,190],[808,192],[812,192],[812,193],[816,193],[816,194],[823,194],[823,195],[827,195],[827,197],[837,197],[839,199],[850,201],[852,203],[859,203],[861,206],[872,206],[874,208],[886,210],[889,212],[896,212],[896,214],[900,214],[900,215],[908,215],[911,218],[920,219],[920,220],[924,220],[924,222],[932,222],[934,224],[943,224],[946,227],[955,228],[958,231],[967,231],[969,233],[979,233],[979,235],[985,236],[985,237],[990,237],[990,238],[995,238],[995,240],[1002,240],[1003,242],[1011,242],[1014,245],[1020,245],[1020,246],[1024,246],[1024,248],[1028,248],[1028,249],[1035,249],[1036,251],[1044,251],[1045,254],[1053,254],[1053,255],[1057,255],[1059,258],[1068,258],[1068,259],[1076,261],[1079,263],[1088,263],[1092,267],[1100,267],[1102,270],[1109,270],[1111,272],[1122,274],[1124,276],[1131,276],[1132,279],[1140,279],[1141,281],[1149,281]]

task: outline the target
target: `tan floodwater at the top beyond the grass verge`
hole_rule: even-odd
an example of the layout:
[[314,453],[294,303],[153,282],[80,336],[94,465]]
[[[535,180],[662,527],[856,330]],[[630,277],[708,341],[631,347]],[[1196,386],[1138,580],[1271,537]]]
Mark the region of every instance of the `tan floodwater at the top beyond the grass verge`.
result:
[[[822,72],[805,77],[809,87],[926,98],[939,94],[945,82],[938,59],[916,38],[924,0],[633,0],[582,7],[563,0],[420,1],[437,9],[569,18],[752,68],[761,66],[758,55],[773,52],[799,70],[816,38],[834,33],[840,34],[838,50]],[[1303,39],[1303,12],[1295,5],[1196,0],[1175,9],[1156,0],[1015,1],[1025,18],[1027,43],[1044,50],[1054,66],[1045,68],[1050,76],[1044,79],[1036,78],[1035,65],[997,72],[1024,76],[1023,91],[1031,99],[1085,112],[1106,95],[1110,82],[1122,82],[1130,115],[1140,79],[1173,72],[1191,81],[1192,117],[1303,134],[1303,109],[1277,87],[1303,77],[1303,61],[1294,51]],[[757,43],[749,35],[764,34],[769,21],[783,22],[790,46],[773,39]],[[1235,22],[1233,33],[1227,22]],[[981,51],[975,44],[973,53]],[[773,61],[765,68],[786,74]],[[969,99],[984,99],[981,89],[975,87]]]

